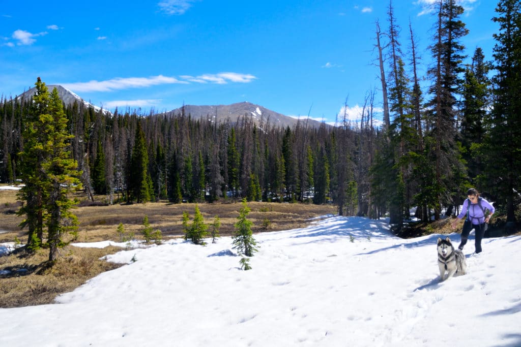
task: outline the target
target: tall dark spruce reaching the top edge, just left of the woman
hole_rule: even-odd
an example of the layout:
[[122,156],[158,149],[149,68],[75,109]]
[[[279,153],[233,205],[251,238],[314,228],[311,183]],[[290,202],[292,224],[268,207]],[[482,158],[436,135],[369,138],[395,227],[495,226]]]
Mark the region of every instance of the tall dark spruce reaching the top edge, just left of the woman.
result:
[[459,18],[463,7],[456,0],[439,0],[437,3],[435,43],[431,45],[434,65],[429,70],[432,95],[428,106],[431,114],[431,133],[434,146],[430,158],[435,163],[436,179],[431,191],[431,205],[435,207],[435,219],[439,220],[441,205],[451,204],[462,182],[456,180],[455,172],[462,172],[459,148],[456,146],[455,120],[456,96],[461,94],[464,72],[464,46],[459,41],[468,33]]

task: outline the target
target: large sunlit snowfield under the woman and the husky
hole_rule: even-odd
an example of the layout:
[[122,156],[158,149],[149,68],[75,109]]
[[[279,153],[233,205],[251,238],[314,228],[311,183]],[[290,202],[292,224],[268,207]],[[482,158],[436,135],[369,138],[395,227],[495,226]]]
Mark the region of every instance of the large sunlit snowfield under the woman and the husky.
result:
[[127,265],[56,304],[0,309],[0,345],[521,345],[521,236],[484,239],[473,255],[471,235],[468,274],[444,282],[438,236],[328,216],[254,235],[249,271],[229,237],[124,250],[107,259]]

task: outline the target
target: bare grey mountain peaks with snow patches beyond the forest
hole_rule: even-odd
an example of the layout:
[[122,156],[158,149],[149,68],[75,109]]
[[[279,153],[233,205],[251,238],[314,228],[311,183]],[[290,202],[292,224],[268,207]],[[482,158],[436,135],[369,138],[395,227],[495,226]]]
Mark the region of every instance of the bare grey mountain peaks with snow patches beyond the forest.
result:
[[[75,101],[78,104],[84,104],[85,106],[92,106],[96,110],[100,110],[100,107],[91,104],[88,101],[85,101],[80,96],[75,93],[69,91],[69,89],[61,86],[48,84],[47,88],[49,92],[51,92],[54,88],[58,90],[58,95],[61,100],[64,101],[65,105],[72,105]],[[36,92],[36,88],[30,88],[28,91],[23,92],[17,98],[28,100],[30,99],[34,93]],[[105,111],[109,113],[109,111]],[[282,113],[278,113],[272,110],[269,110],[263,106],[252,104],[251,102],[238,102],[237,104],[231,105],[215,105],[215,106],[196,106],[196,105],[185,105],[183,107],[177,108],[175,110],[171,110],[166,112],[167,115],[177,116],[184,112],[185,115],[190,115],[192,119],[210,119],[216,122],[225,122],[228,119],[231,123],[236,123],[241,117],[248,117],[249,119],[253,119],[259,125],[261,121],[263,124],[269,123],[270,126],[276,127],[287,127],[293,128],[299,122],[296,118],[289,117]],[[302,126],[314,127],[318,128],[322,123],[312,120],[312,119],[302,119],[300,120]]]

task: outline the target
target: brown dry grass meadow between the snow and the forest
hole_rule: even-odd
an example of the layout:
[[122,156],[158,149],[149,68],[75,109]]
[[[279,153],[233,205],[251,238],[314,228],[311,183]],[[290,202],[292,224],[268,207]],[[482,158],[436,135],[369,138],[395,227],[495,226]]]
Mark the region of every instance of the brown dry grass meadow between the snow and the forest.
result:
[[[16,215],[20,202],[15,190],[0,190],[0,243],[19,240],[27,242],[27,230],[18,226],[22,221]],[[83,196],[78,195],[80,200]],[[195,204],[171,204],[154,202],[145,204],[103,205],[105,197],[100,197],[95,206],[82,201],[75,214],[80,221],[78,238],[75,242],[95,242],[103,240],[119,241],[117,227],[122,223],[126,233],[133,233],[141,239],[143,218],[146,215],[153,228],[159,229],[163,239],[181,237],[182,214],[194,215]],[[332,205],[249,202],[251,209],[248,219],[253,222],[253,232],[271,232],[305,227],[309,219],[336,213]],[[219,216],[220,235],[231,235],[234,223],[242,205],[240,202],[201,203],[199,209],[205,223],[213,222]],[[61,250],[60,258],[53,264],[47,262],[48,250],[28,254],[23,249],[9,255],[0,256],[0,270],[10,271],[0,275],[0,307],[18,307],[52,303],[59,293],[75,289],[89,278],[120,265],[102,260],[104,255],[119,251],[117,247],[104,249],[68,246]]]

